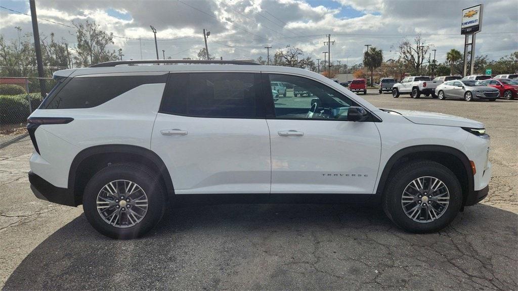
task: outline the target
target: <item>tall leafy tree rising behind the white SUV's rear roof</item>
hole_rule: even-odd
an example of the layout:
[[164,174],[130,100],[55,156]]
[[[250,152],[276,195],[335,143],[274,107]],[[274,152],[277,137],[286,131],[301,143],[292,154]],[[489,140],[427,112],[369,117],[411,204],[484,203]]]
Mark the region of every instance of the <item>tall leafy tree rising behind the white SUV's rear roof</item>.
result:
[[85,67],[92,64],[117,61],[118,55],[115,50],[110,51],[108,47],[113,45],[113,33],[106,33],[100,29],[100,25],[86,21],[73,23],[76,28],[77,45],[74,61],[77,66]]

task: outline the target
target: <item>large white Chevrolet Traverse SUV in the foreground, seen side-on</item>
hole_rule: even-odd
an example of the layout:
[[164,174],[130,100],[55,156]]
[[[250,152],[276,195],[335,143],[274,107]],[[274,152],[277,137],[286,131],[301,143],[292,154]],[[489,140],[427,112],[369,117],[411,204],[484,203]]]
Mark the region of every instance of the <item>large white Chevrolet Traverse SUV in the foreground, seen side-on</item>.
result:
[[[54,78],[28,119],[31,188],[82,204],[112,238],[145,234],[183,201],[371,201],[402,229],[430,232],[488,192],[482,123],[380,109],[308,70],[118,61]],[[311,98],[274,103],[275,82]]]

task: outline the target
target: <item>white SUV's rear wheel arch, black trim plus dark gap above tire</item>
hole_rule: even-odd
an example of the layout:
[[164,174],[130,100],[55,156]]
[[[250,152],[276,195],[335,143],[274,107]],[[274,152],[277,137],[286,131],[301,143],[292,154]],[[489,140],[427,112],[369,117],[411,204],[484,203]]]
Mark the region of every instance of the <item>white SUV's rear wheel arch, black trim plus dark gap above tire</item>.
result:
[[153,151],[126,144],[106,144],[80,151],[70,165],[68,188],[74,190],[76,199],[82,199],[84,187],[100,169],[111,163],[138,163],[160,174],[168,195],[174,195],[171,176],[162,159]]

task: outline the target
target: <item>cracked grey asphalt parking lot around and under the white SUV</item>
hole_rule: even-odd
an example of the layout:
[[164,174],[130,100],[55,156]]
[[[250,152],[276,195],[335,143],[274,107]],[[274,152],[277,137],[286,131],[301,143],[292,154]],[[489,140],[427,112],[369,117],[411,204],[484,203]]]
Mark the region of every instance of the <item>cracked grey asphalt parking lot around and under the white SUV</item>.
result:
[[175,209],[148,236],[98,234],[82,208],[32,194],[23,139],[0,150],[0,286],[27,289],[518,289],[518,101],[412,99],[382,108],[484,122],[490,194],[437,234],[407,234],[364,205]]

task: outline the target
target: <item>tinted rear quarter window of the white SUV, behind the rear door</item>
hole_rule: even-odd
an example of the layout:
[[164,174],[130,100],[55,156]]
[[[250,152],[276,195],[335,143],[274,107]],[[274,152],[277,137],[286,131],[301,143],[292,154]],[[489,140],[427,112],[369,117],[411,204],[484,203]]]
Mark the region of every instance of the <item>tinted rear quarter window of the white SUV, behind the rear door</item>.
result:
[[167,75],[75,77],[49,97],[45,109],[91,108],[140,85],[165,83],[166,79]]

